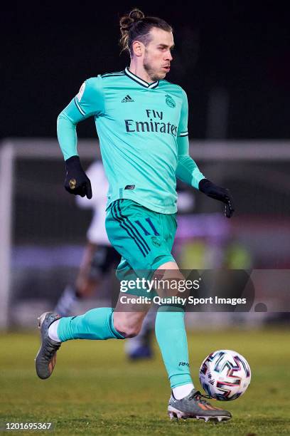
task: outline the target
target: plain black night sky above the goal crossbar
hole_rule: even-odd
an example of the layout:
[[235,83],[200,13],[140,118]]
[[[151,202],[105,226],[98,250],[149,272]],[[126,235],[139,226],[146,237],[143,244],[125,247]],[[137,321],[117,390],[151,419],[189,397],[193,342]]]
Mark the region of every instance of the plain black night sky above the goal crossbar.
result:
[[[137,6],[174,28],[168,80],[185,88],[190,138],[206,137],[208,97],[229,98],[228,138],[288,138],[289,11],[281,2],[203,1],[166,4],[14,2],[1,13],[1,137],[55,137],[58,113],[82,81],[119,71],[119,17]],[[95,137],[91,120],[81,137]]]

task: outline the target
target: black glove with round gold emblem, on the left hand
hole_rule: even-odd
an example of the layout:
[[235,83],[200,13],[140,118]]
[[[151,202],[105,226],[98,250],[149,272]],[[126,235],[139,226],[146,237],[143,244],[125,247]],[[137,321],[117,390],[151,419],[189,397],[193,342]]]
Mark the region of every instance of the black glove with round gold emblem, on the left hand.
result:
[[87,195],[87,198],[92,198],[90,179],[82,170],[78,156],[72,156],[65,160],[65,189],[70,194],[80,195],[80,197]]

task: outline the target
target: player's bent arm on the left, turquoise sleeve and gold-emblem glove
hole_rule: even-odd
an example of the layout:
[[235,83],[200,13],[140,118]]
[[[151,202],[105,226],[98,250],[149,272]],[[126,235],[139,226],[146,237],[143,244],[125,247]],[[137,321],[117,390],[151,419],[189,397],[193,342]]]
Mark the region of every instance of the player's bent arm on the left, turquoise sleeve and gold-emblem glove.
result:
[[58,115],[58,142],[65,158],[65,190],[71,194],[92,198],[90,179],[82,169],[77,153],[77,123],[103,113],[102,79],[98,77],[82,83],[79,93]]

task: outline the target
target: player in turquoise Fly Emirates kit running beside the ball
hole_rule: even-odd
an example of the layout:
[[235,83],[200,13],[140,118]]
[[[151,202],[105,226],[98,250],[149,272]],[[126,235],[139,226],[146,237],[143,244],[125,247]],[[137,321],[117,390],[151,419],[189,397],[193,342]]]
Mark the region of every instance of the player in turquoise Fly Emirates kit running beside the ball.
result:
[[[182,279],[171,254],[176,232],[176,177],[225,203],[227,217],[234,212],[232,199],[228,190],[206,179],[188,155],[186,93],[164,80],[173,60],[171,26],[138,9],[122,17],[120,26],[120,43],[131,59],[129,68],[85,81],[58,117],[65,189],[92,197],[90,180],[77,155],[76,125],[93,116],[109,180],[107,234],[122,255],[118,278],[130,277],[132,271],[136,276],[147,271],[150,279]],[[51,375],[56,352],[65,341],[136,336],[149,304],[138,305],[131,297],[142,293],[148,296],[146,289],[130,289],[120,296],[116,308],[95,308],[82,316],[60,318],[53,312],[43,313],[39,318],[38,376]],[[122,303],[122,297],[127,303]],[[155,331],[171,384],[170,417],[230,419],[230,412],[210,405],[193,386],[183,307],[161,306]]]

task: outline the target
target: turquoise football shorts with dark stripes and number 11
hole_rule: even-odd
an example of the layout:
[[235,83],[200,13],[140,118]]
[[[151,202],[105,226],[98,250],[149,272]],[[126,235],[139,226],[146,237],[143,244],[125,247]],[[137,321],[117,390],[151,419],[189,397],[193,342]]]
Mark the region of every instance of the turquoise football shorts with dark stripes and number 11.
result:
[[[176,228],[176,214],[160,214],[131,199],[113,202],[107,209],[106,229],[109,242],[122,256],[117,278],[150,280],[159,266],[175,261],[171,249]],[[130,289],[128,294],[153,298],[152,292],[140,289]]]

